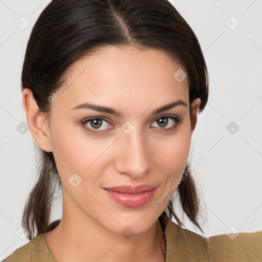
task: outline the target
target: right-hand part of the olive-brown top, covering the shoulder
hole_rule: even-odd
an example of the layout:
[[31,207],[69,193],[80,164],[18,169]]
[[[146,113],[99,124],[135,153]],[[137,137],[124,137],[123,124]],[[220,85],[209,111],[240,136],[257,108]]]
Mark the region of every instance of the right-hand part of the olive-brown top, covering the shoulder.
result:
[[205,237],[168,221],[166,261],[262,261],[262,231]]

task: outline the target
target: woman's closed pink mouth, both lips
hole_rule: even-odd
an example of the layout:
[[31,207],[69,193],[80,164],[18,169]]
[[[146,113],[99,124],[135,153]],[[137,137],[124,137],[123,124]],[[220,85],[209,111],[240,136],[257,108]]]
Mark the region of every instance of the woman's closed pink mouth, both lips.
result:
[[157,186],[118,186],[103,189],[118,204],[135,208],[145,205],[154,196]]

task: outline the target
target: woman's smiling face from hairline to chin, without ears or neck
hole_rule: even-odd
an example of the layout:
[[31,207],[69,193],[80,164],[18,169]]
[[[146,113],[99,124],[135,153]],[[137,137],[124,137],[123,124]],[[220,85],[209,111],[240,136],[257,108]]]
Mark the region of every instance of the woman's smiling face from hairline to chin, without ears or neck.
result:
[[[127,226],[141,233],[163,212],[186,166],[192,134],[188,79],[159,50],[96,51],[73,65],[62,92],[50,98],[50,150],[63,183],[63,216],[119,234]],[[200,99],[195,102],[198,110]],[[112,110],[76,108],[84,103]],[[156,189],[133,195],[104,189],[123,185]]]

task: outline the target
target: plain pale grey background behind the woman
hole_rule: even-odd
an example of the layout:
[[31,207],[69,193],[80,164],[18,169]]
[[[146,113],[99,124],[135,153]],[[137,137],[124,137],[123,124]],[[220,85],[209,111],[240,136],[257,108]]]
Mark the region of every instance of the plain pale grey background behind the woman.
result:
[[[0,260],[28,243],[21,214],[36,165],[32,135],[21,131],[27,121],[20,74],[30,31],[49,2],[0,0]],[[197,35],[210,77],[191,147],[192,162],[206,156],[194,169],[206,204],[205,235],[262,230],[262,1],[171,3]],[[21,28],[26,19],[30,25]],[[59,219],[61,199],[54,210],[52,220]]]

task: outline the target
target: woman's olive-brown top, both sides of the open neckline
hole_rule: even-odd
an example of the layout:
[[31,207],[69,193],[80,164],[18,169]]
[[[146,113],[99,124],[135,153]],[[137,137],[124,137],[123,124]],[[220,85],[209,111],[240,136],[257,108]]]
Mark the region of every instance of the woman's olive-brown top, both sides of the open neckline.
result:
[[[162,223],[161,226],[163,226]],[[168,220],[164,232],[166,262],[262,261],[262,231],[222,234],[206,238],[190,230],[180,228],[176,223]],[[3,262],[41,261],[57,262],[42,234],[38,234],[26,245],[16,249],[3,260]]]

